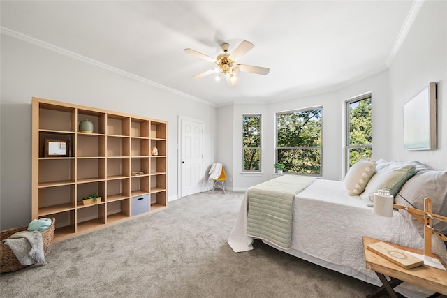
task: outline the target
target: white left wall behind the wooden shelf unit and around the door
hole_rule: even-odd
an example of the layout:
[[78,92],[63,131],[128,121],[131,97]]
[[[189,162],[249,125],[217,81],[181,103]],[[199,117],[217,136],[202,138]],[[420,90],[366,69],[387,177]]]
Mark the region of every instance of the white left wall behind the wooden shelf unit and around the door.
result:
[[1,35],[1,230],[31,221],[31,97],[168,121],[168,197],[177,198],[177,117],[204,121],[214,161],[216,108]]

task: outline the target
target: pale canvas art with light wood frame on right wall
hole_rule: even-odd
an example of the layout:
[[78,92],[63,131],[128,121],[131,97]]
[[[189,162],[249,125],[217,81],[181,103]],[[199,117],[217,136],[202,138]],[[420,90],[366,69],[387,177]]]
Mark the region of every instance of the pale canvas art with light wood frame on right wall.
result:
[[436,83],[404,105],[404,149],[437,149],[437,99]]

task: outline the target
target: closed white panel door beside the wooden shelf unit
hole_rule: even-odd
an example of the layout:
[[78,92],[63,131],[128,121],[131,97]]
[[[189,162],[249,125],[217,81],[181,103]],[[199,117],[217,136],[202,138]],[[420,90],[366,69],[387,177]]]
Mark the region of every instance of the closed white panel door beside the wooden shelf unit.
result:
[[180,195],[192,195],[202,191],[203,173],[203,122],[193,119],[180,119],[181,155],[180,165],[182,188]]

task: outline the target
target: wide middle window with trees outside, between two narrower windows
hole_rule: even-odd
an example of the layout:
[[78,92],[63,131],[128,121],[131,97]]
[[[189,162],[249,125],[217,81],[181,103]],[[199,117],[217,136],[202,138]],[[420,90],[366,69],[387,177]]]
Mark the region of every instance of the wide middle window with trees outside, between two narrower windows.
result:
[[296,174],[321,175],[323,107],[277,114],[277,163]]

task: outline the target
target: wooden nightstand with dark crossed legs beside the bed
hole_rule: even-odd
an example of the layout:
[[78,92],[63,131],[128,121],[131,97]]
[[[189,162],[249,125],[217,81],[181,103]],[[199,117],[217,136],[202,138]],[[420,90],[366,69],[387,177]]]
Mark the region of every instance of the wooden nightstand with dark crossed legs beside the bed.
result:
[[[437,297],[440,295],[439,293],[447,295],[447,271],[426,265],[412,269],[404,269],[394,262],[386,260],[386,258],[383,258],[374,251],[367,249],[368,244],[373,244],[379,241],[381,240],[372,239],[365,236],[363,237],[363,251],[365,252],[366,267],[367,269],[375,271],[383,283],[380,288],[374,291],[371,295],[368,295],[368,298],[381,297],[381,295],[386,294],[387,292],[390,297],[399,297],[393,288],[400,285],[400,283],[403,283],[404,281],[437,292],[437,295],[432,295],[430,297]],[[417,249],[391,244],[386,241],[383,242],[404,251],[423,254],[423,251],[419,251]],[[441,260],[441,258],[438,256],[436,257],[445,267],[446,264]],[[386,276],[390,277],[390,281],[388,281]]]

